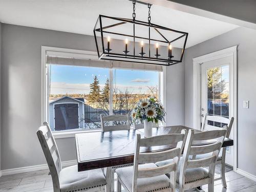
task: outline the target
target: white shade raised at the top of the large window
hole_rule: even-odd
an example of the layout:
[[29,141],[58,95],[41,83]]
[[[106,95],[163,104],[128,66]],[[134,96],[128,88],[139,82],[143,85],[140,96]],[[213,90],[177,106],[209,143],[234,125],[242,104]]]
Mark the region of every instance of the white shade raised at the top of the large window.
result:
[[[132,69],[132,70],[145,70],[145,71],[163,71],[162,66],[134,63],[134,62],[121,62],[121,61],[106,61],[99,60],[94,52],[92,54],[71,54],[72,57],[67,57],[67,53],[48,51],[47,64],[55,65],[72,65],[84,67],[98,67],[98,68],[114,68],[114,69]],[[70,55],[70,54],[69,54]]]

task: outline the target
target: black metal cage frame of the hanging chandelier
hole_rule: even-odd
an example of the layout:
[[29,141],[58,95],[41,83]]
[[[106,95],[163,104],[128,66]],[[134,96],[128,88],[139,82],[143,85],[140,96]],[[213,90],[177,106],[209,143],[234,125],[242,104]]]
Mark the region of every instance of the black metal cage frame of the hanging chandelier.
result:
[[[102,18],[114,19],[114,20],[117,20],[118,23],[114,24],[114,25],[109,25],[109,26],[102,27]],[[100,26],[99,28],[97,28],[98,23],[99,23],[99,26]],[[126,24],[126,23],[133,24],[133,35],[116,33],[116,32],[111,32],[111,31],[105,31],[105,29],[109,29],[109,28],[112,28],[112,27],[115,27],[115,26]],[[141,25],[141,26],[148,27],[148,37],[136,36],[135,35],[135,26],[136,25]],[[151,28],[156,30],[156,32],[159,33],[163,37],[164,40],[152,39],[151,34],[150,34]],[[178,38],[175,38],[173,40],[168,40],[162,33],[160,33],[160,31],[158,29],[179,33],[181,35]],[[188,36],[188,33],[186,33],[186,32],[177,31],[177,30],[162,27],[162,26],[159,26],[159,25],[156,25],[156,24],[152,24],[152,23],[148,23],[148,22],[142,22],[140,20],[133,20],[133,19],[129,19],[129,18],[119,18],[119,17],[111,17],[111,16],[105,16],[105,15],[99,15],[93,32],[94,32],[94,38],[95,38],[95,42],[96,42],[96,48],[97,48],[97,53],[98,53],[99,59],[136,62],[136,63],[147,63],[147,64],[154,64],[154,65],[162,65],[162,66],[170,66],[170,65],[174,65],[176,63],[182,62],[182,58],[183,58],[183,54],[184,54],[184,50],[185,50],[185,46],[186,46],[186,41],[187,41],[187,36]],[[100,32],[100,40],[101,40],[101,44],[102,44],[102,53],[101,54],[100,54],[100,51],[99,51],[96,32]],[[124,36],[124,37],[133,37],[133,51],[131,51],[131,52],[133,52],[133,54],[125,54],[125,53],[120,54],[120,53],[107,52],[106,51],[107,49],[104,48],[104,37],[103,37],[104,33],[109,33],[109,34],[114,34],[114,35],[121,35],[121,36]],[[168,46],[169,44],[172,44],[173,42],[175,42],[175,41],[177,41],[177,40],[179,40],[180,38],[183,38],[183,37],[185,37],[185,40],[184,40],[184,44],[183,44],[183,47],[182,47],[180,60],[173,59],[173,58],[166,58],[166,59],[165,58],[158,58],[158,57],[154,57],[154,55],[152,55],[153,57],[151,56],[151,46],[150,46],[151,45],[151,40],[166,43],[166,45]],[[135,44],[136,44],[135,38],[147,40],[148,45],[149,45],[148,56],[135,55]]]

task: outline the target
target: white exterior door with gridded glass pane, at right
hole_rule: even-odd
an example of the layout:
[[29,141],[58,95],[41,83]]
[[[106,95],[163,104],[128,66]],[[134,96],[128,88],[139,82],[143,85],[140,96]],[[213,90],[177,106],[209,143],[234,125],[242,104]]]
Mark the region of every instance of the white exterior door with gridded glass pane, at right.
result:
[[[207,113],[225,118],[233,117],[233,62],[232,56],[202,63],[201,65],[201,122]],[[202,122],[203,123],[203,122]],[[208,121],[207,130],[224,126],[220,122]],[[233,129],[233,128],[232,128]],[[230,138],[233,139],[233,130]],[[226,163],[233,166],[233,147],[227,147]]]

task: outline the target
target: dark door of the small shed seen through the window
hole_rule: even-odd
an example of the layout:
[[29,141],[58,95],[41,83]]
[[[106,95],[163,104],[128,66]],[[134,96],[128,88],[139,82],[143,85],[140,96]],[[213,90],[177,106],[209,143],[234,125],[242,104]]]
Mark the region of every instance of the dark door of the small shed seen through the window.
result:
[[79,128],[78,103],[55,104],[55,131]]

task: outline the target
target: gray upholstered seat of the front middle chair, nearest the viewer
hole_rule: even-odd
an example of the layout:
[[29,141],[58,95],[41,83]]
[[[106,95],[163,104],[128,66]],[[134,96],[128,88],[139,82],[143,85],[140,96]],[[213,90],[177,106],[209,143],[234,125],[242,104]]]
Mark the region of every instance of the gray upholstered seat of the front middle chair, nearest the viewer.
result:
[[[152,168],[157,167],[154,163],[147,163],[139,165],[139,168]],[[133,187],[133,168],[134,167],[123,167],[116,169],[116,173],[119,177],[120,182],[124,188],[132,192]],[[164,188],[169,188],[169,179],[165,175],[151,177],[151,178],[140,178],[137,180],[137,191],[156,191]]]

